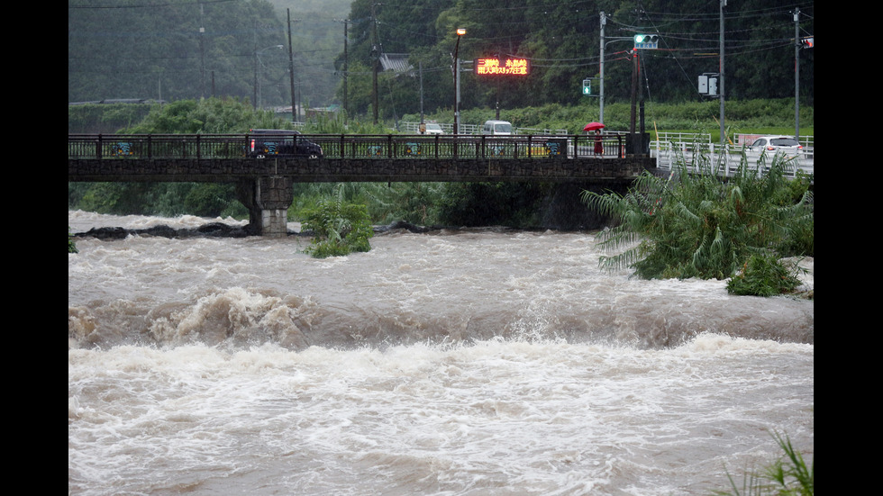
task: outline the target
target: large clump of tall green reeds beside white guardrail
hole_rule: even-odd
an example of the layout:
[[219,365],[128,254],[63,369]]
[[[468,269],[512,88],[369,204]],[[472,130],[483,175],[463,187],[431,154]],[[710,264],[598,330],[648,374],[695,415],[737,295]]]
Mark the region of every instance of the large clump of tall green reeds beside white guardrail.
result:
[[769,295],[794,289],[793,268],[779,258],[813,256],[810,178],[789,179],[789,161],[777,156],[769,171],[746,160],[733,177],[708,164],[683,164],[667,177],[643,174],[627,194],[584,192],[583,201],[617,224],[599,233],[609,269],[631,268],[645,279],[725,279],[733,293]]

